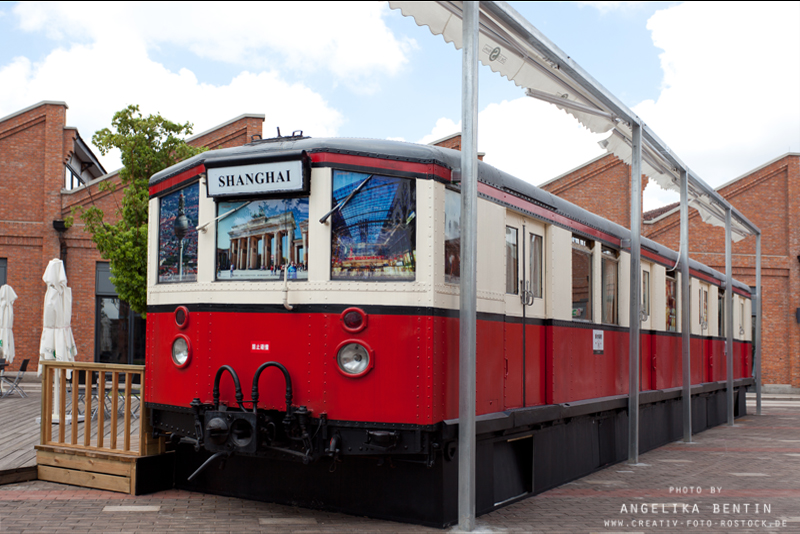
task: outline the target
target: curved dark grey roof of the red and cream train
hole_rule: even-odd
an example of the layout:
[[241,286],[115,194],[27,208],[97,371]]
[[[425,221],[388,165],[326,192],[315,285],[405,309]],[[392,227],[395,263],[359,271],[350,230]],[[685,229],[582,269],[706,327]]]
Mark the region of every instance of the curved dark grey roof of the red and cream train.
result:
[[[332,153],[409,163],[435,164],[450,170],[461,167],[460,151],[433,145],[420,145],[385,139],[280,137],[257,140],[233,148],[203,152],[154,174],[150,178],[150,187],[199,165],[207,165],[208,163],[213,163],[214,166],[243,165],[266,157],[291,156],[292,154],[299,156],[302,152],[306,152],[309,155]],[[631,232],[624,226],[604,219],[483,161],[478,162],[478,181],[506,193],[519,196],[529,202],[533,201],[535,204],[563,217],[616,236],[619,239],[630,239]],[[643,247],[677,264],[677,252],[644,236],[641,238],[641,244]],[[629,249],[629,247],[627,248]],[[689,266],[691,269],[704,273],[722,284],[725,282],[724,274],[702,263],[689,260]],[[733,284],[741,290],[748,293],[751,292],[747,284],[737,280],[734,280]]]

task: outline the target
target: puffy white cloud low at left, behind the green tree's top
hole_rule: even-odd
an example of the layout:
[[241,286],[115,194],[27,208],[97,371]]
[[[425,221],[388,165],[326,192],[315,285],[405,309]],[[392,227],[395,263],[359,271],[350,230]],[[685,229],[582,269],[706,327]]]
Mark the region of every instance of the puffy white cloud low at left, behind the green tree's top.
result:
[[[41,63],[16,58],[0,68],[0,116],[41,100],[63,100],[76,110],[67,123],[78,126],[87,141],[128,104],[139,104],[145,115],[190,121],[195,132],[242,113],[264,113],[267,134],[281,126],[336,135],[343,120],[319,94],[286,82],[277,71],[242,72],[226,85],[199,83],[189,70],[171,72],[152,61],[136,40],[74,45],[54,50]],[[106,170],[119,166],[114,156],[101,160]]]

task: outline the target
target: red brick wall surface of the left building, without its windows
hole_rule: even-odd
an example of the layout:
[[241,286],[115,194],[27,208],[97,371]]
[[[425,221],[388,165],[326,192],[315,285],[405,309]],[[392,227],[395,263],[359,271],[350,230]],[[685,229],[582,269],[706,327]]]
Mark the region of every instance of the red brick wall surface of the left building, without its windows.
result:
[[[8,262],[7,283],[18,295],[12,371],[24,358],[31,360],[30,369],[36,368],[47,289],[42,275],[48,262],[59,257],[72,288],[77,359],[94,360],[95,272],[97,262],[105,260],[83,231],[80,219],[63,235],[53,228],[53,221],[71,215],[73,207],[95,205],[103,210],[106,221],[115,222],[123,192],[118,173],[72,191],[62,189],[64,164],[78,135],[74,128],[65,127],[66,110],[63,102],[42,102],[0,119],[0,258]],[[242,115],[191,138],[190,144],[211,149],[240,146],[261,135],[263,122],[263,115]],[[117,188],[100,191],[101,182]]]

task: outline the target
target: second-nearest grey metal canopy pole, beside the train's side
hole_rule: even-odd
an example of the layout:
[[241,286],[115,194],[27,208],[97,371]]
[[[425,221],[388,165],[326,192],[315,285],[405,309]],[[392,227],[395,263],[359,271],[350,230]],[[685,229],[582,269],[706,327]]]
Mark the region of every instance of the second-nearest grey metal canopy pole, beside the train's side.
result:
[[639,463],[639,341],[642,290],[642,126],[633,125],[631,154],[631,303],[628,375],[628,463]]

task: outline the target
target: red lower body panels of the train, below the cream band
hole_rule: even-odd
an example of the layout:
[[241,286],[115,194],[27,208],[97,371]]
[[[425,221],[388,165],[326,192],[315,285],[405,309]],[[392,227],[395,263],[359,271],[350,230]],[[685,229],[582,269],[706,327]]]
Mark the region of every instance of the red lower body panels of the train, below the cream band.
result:
[[[357,333],[340,313],[192,311],[188,326],[172,312],[147,317],[145,400],[188,407],[211,402],[221,365],[238,374],[245,399],[253,375],[266,361],[283,364],[292,377],[293,403],[333,420],[431,425],[458,417],[458,319],[432,315],[369,314]],[[524,329],[523,329],[524,328]],[[622,329],[603,330],[602,350],[583,324],[527,324],[479,320],[476,413],[484,415],[543,404],[568,403],[628,392],[629,338]],[[171,346],[178,335],[191,343],[190,361],[178,368]],[[358,342],[371,353],[372,367],[345,376],[336,363],[343,344]],[[641,337],[643,391],[682,384],[680,334]],[[692,338],[692,383],[725,380],[724,341]],[[751,375],[751,344],[734,343],[734,378]],[[233,406],[228,374],[221,400]],[[267,369],[260,380],[259,406],[282,410],[283,375]]]

